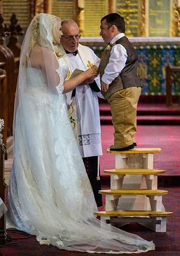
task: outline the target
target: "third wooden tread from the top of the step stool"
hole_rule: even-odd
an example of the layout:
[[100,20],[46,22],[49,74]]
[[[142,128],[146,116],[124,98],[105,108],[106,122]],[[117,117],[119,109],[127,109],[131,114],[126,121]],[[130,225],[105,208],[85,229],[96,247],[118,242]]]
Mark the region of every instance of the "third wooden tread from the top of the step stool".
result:
[[113,195],[113,196],[130,196],[130,195],[145,195],[145,196],[160,196],[167,194],[167,190],[147,190],[147,189],[120,189],[120,190],[99,190],[99,194]]

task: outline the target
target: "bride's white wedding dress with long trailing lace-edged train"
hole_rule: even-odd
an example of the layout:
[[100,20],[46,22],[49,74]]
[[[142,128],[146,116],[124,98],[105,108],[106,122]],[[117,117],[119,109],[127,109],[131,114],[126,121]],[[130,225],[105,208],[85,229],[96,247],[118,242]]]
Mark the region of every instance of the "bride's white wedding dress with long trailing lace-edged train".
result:
[[[60,65],[66,77],[63,59]],[[17,108],[7,228],[72,251],[117,254],[154,249],[153,242],[139,236],[108,224],[102,228],[94,217],[97,206],[70,125],[66,96],[49,92],[41,69],[27,68],[27,80],[31,71],[38,82],[29,80]]]

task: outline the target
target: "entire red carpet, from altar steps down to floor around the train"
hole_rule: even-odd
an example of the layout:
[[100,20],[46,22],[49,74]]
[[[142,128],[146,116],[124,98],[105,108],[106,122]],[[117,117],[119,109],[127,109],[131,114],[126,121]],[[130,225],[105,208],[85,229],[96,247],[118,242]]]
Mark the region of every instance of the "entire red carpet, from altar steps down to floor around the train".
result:
[[[163,108],[162,108],[163,106]],[[101,108],[101,117],[109,116],[109,109]],[[104,112],[102,112],[104,111]],[[159,175],[159,188],[168,190],[163,196],[163,205],[166,211],[172,211],[173,216],[167,217],[166,233],[156,233],[139,224],[128,224],[123,230],[138,234],[147,240],[153,240],[156,245],[155,251],[142,254],[130,254],[141,256],[178,256],[180,255],[179,239],[179,202],[180,202],[180,112],[179,109],[167,109],[163,105],[139,104],[138,109],[138,132],[136,142],[138,147],[162,148],[162,153],[154,154],[154,169],[162,169],[166,172]],[[153,118],[152,118],[153,117]],[[154,120],[156,120],[156,122]],[[108,121],[111,117],[108,117]],[[141,120],[141,123],[140,123]],[[143,120],[143,121],[142,121]],[[153,121],[152,121],[153,120]],[[163,121],[164,120],[164,121]],[[166,121],[165,121],[166,120]],[[164,122],[164,123],[163,123]],[[174,125],[172,125],[172,123]],[[145,124],[145,125],[144,125]],[[155,125],[157,124],[157,125]],[[167,125],[168,124],[168,125]],[[103,173],[104,169],[113,169],[114,157],[107,154],[106,150],[113,144],[113,126],[105,124],[101,126],[103,141],[103,156],[100,157],[101,180],[103,188],[109,186],[109,176]],[[105,186],[104,186],[105,185]],[[104,200],[104,197],[103,197]],[[102,208],[103,209],[103,208]],[[9,234],[9,231],[7,231]],[[10,234],[11,236],[11,234]],[[54,246],[39,245],[34,236],[28,239],[13,240],[15,243],[0,248],[0,256],[108,256],[111,254],[88,254],[83,252],[61,251]],[[128,254],[120,254],[128,255]]]

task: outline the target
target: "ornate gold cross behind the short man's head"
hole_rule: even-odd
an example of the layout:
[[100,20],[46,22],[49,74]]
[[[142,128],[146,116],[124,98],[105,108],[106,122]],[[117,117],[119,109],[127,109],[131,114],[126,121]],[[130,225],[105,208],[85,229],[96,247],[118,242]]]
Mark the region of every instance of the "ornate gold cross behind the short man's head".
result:
[[126,8],[119,8],[117,11],[119,11],[120,14],[126,14],[125,22],[126,22],[126,36],[133,36],[131,30],[129,29],[129,23],[130,23],[130,14],[136,13],[136,8],[130,8],[131,1],[125,1]]

